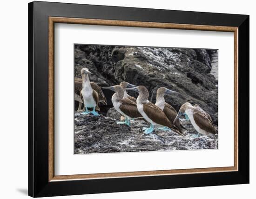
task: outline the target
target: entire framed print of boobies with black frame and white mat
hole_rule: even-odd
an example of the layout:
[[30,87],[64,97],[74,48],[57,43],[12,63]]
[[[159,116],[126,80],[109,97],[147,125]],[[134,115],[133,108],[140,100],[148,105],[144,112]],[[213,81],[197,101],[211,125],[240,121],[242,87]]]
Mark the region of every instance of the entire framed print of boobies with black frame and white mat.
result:
[[249,183],[249,16],[28,4],[32,197]]

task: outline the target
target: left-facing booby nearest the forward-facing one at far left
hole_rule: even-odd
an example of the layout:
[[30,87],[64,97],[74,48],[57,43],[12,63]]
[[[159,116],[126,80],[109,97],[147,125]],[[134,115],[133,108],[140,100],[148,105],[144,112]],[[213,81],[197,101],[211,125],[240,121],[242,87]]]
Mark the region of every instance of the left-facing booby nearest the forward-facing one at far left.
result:
[[126,124],[130,126],[130,119],[142,118],[141,113],[139,113],[136,103],[128,98],[123,98],[124,90],[121,86],[108,86],[102,87],[103,89],[109,89],[115,92],[111,100],[115,110],[117,110],[121,115],[125,116],[124,122],[117,122],[117,124]]

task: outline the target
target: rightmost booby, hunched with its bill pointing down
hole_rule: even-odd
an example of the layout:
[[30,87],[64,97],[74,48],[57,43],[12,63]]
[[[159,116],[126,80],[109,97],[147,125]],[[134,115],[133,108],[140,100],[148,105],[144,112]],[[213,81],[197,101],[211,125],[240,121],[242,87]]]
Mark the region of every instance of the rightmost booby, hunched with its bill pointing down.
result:
[[174,122],[183,114],[188,116],[195,130],[198,132],[197,136],[201,133],[210,136],[212,139],[217,139],[215,135],[216,130],[210,115],[202,110],[200,106],[192,106],[189,102],[186,102],[181,106]]

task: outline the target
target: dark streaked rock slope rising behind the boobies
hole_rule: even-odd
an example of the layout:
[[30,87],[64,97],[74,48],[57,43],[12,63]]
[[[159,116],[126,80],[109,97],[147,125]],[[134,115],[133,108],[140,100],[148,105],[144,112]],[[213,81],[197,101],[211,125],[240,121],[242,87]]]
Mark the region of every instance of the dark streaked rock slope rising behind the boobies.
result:
[[[177,111],[187,101],[199,104],[217,125],[218,82],[212,72],[213,56],[216,50],[76,45],[75,76],[80,76],[81,67],[88,67],[93,73],[90,79],[99,86],[121,81],[146,86],[153,103],[157,89],[165,86],[180,93],[165,97]],[[113,93],[103,92],[111,105]]]

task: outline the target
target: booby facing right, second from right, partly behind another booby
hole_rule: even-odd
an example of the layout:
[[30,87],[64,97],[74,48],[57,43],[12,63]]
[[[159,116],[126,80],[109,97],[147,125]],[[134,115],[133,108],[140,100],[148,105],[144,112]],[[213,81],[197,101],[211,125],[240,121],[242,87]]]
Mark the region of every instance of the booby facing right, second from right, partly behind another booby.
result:
[[[156,92],[156,102],[155,102],[155,105],[158,106],[165,113],[166,117],[172,123],[172,126],[173,126],[172,128],[175,128],[177,131],[180,132],[180,134],[183,134],[183,132],[181,130],[180,121],[176,120],[175,123],[173,122],[173,120],[175,119],[175,117],[177,115],[177,111],[174,109],[174,107],[172,107],[171,105],[166,103],[165,99],[164,99],[164,95],[165,94],[172,94],[172,93],[178,93],[178,92],[169,90],[169,89],[167,89],[165,87],[158,88],[157,92]],[[170,130],[166,126],[161,128],[161,129],[162,130]]]

